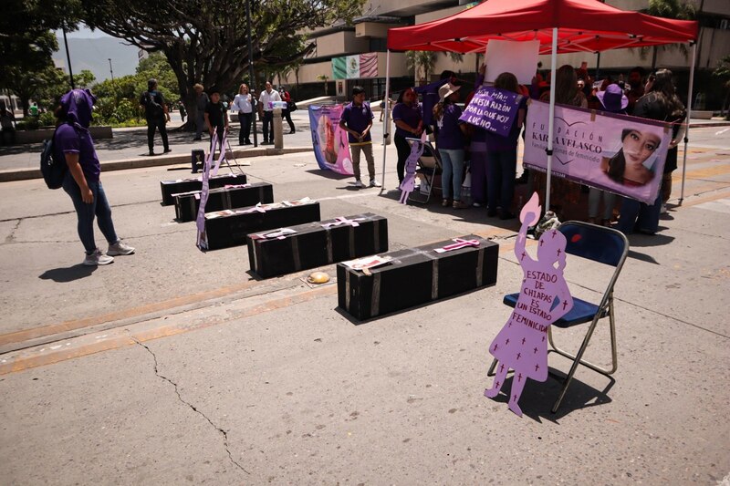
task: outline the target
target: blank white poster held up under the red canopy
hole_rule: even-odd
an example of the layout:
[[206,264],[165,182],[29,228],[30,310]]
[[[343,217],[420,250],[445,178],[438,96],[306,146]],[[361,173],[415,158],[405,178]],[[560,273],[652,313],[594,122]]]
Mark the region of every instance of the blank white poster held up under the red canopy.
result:
[[540,41],[490,40],[486,44],[486,82],[494,83],[502,73],[512,73],[517,82],[529,85],[537,71]]

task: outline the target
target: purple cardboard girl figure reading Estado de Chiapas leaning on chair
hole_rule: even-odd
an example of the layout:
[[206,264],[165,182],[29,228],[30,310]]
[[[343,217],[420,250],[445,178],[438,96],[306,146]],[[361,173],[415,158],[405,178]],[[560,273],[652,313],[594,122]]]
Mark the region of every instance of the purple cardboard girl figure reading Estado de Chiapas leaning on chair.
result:
[[522,288],[515,310],[489,346],[499,366],[492,388],[485,389],[485,397],[495,398],[505,383],[507,371],[514,369],[508,403],[509,409],[520,417],[522,410],[517,401],[527,378],[547,379],[547,326],[573,307],[573,298],[563,278],[566,245],[563,233],[549,230],[542,234],[537,244],[537,260],[525,249],[527,228],[537,223],[540,210],[535,192],[519,215],[522,227],[515,243],[515,255],[524,275]]

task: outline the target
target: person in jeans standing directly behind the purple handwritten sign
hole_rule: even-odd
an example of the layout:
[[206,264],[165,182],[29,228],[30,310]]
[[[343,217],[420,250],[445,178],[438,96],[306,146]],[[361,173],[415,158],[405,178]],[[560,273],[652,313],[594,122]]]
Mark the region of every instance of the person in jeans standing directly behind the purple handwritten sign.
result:
[[[512,73],[502,73],[495,79],[497,89],[519,94],[519,83]],[[518,98],[517,116],[512,129],[506,135],[492,131],[486,132],[487,164],[487,216],[495,216],[500,207],[499,218],[509,220],[515,217],[510,211],[515,195],[515,176],[517,171],[517,139],[527,116],[527,98]]]

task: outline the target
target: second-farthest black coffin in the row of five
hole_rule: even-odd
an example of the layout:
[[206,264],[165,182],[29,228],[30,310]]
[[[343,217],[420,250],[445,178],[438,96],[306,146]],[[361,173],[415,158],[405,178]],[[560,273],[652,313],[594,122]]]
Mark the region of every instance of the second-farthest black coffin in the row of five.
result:
[[[201,191],[175,194],[175,217],[180,222],[194,221],[198,216]],[[245,208],[261,202],[274,202],[274,190],[271,184],[255,182],[253,184],[237,184],[219,187],[208,191],[205,212],[223,211],[224,209]]]

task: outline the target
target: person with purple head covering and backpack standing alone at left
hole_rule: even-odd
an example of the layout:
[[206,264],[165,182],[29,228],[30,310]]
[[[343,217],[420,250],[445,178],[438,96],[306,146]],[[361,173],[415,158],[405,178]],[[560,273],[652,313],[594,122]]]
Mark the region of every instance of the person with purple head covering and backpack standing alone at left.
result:
[[[78,237],[86,250],[84,264],[89,266],[110,264],[113,256],[134,253],[134,248],[117,237],[109,201],[99,181],[101,164],[89,133],[94,101],[96,98],[88,89],[72,89],[61,97],[55,111],[58,128],[53,138],[54,159],[66,160],[68,165],[63,189],[74,203]],[[94,241],[95,217],[109,243],[106,254]]]

